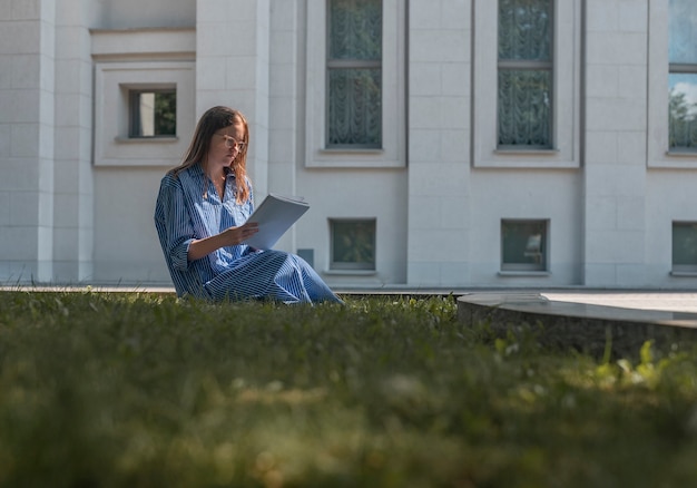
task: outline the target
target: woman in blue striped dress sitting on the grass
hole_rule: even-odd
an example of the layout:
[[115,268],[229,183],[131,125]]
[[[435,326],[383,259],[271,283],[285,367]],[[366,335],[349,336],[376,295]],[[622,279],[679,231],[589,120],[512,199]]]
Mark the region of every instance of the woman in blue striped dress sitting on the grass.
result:
[[246,223],[254,209],[248,144],[245,117],[213,107],[198,121],[184,163],[163,177],[155,226],[177,295],[341,303],[300,256],[244,244],[258,231]]

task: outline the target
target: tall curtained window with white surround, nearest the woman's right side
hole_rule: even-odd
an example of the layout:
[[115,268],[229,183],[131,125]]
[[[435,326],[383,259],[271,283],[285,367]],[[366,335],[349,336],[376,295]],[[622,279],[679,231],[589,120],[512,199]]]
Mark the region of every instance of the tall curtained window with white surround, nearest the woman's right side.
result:
[[307,2],[307,167],[406,165],[406,4]]

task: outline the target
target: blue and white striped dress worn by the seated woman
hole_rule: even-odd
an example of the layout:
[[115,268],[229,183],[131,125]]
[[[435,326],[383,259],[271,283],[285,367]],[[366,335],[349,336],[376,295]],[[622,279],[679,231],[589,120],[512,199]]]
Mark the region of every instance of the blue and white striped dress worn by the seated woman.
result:
[[[199,165],[177,177],[165,175],[155,207],[155,226],[177,295],[224,301],[274,299],[284,303],[342,302],[302,257],[247,245],[223,247],[189,262],[194,240],[244,224],[253,196],[235,202],[235,176],[228,173],[220,202]],[[206,196],[204,196],[206,194]]]

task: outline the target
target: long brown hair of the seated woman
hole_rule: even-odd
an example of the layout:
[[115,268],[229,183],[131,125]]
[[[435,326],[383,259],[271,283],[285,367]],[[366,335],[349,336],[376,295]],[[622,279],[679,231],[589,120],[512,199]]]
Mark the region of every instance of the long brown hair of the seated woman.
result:
[[249,185],[247,185],[247,147],[249,147],[249,127],[245,116],[233,108],[216,106],[212,107],[198,119],[194,137],[189,144],[184,162],[171,169],[174,176],[178,176],[184,169],[190,168],[196,164],[200,164],[204,168],[204,173],[207,174],[206,164],[208,162],[208,152],[210,150],[210,140],[213,135],[235,124],[235,121],[242,121],[245,135],[245,147],[237,153],[237,156],[230,165],[230,169],[235,174],[236,195],[235,201],[238,204],[245,203],[249,198]]

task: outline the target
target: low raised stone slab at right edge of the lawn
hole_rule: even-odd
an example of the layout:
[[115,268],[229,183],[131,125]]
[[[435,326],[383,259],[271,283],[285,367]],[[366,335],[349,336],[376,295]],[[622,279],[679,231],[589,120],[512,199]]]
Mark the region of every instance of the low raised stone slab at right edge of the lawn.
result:
[[697,293],[619,291],[471,292],[458,299],[465,324],[501,334],[540,324],[540,341],[603,355],[636,354],[647,340],[661,347],[697,343]]

